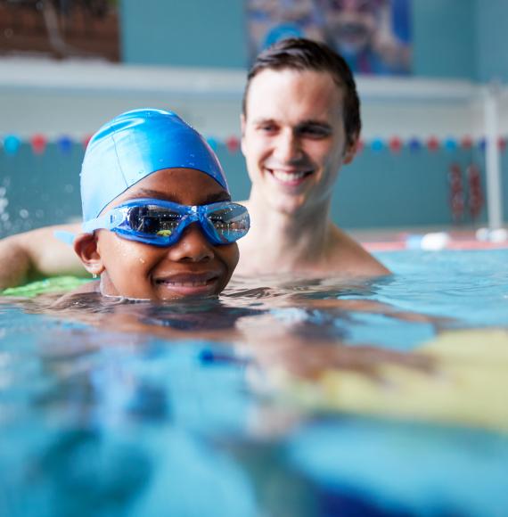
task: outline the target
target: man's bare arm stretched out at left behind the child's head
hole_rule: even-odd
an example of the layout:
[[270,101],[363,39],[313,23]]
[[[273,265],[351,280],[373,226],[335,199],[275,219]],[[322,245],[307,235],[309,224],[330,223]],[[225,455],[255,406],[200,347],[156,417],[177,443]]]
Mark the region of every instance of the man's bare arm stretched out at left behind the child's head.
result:
[[0,240],[0,290],[47,276],[88,275],[72,246],[55,231],[78,233],[80,226],[47,226]]

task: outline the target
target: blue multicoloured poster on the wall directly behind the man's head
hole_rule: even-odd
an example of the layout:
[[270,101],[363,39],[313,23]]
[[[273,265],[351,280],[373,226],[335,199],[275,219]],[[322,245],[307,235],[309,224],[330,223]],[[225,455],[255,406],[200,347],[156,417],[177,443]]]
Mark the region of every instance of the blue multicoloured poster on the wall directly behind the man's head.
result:
[[411,0],[247,0],[250,62],[284,37],[322,41],[360,74],[411,73]]

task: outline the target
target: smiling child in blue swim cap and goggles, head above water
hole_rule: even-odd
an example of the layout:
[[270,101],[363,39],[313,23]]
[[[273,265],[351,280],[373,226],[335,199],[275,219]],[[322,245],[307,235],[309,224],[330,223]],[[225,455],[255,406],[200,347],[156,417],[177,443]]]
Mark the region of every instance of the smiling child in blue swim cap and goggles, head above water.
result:
[[169,111],[127,111],[99,129],[86,149],[81,198],[74,250],[101,277],[86,291],[103,296],[217,295],[249,230],[214,152]]

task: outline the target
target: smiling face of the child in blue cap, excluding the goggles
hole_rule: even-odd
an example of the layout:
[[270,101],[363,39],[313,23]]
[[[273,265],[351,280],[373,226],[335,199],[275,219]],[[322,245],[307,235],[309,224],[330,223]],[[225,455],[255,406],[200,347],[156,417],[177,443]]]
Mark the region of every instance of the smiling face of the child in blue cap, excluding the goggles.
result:
[[[225,189],[207,174],[171,168],[145,177],[102,213],[139,198],[182,205],[230,200]],[[102,294],[110,296],[169,300],[217,295],[225,288],[238,262],[236,243],[212,244],[198,223],[185,228],[180,240],[167,248],[129,241],[108,230],[96,231],[94,240],[94,267],[87,269],[100,270]]]

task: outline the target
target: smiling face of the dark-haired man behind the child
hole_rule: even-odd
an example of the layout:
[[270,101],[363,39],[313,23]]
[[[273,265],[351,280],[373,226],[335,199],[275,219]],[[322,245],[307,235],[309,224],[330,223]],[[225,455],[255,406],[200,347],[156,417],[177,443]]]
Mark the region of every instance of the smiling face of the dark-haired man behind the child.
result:
[[242,117],[242,152],[253,191],[285,213],[328,205],[342,163],[352,160],[343,94],[327,72],[263,70]]

